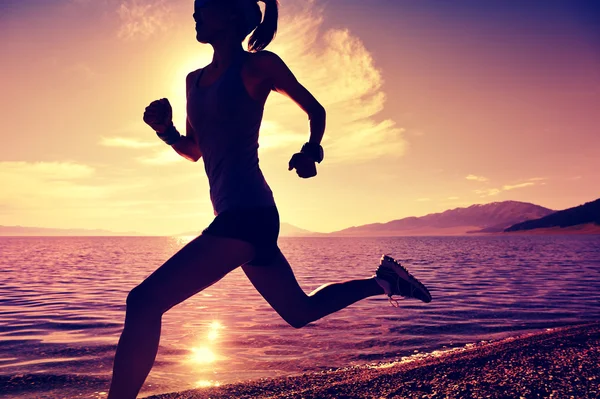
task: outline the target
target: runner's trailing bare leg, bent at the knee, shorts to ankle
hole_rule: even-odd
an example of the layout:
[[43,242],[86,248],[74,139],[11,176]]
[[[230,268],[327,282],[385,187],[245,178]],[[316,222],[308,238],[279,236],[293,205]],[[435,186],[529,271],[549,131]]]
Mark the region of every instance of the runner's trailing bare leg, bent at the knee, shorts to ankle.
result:
[[281,251],[270,265],[246,264],[242,269],[273,309],[295,328],[304,327],[361,299],[384,293],[375,279],[365,278],[324,284],[306,295]]

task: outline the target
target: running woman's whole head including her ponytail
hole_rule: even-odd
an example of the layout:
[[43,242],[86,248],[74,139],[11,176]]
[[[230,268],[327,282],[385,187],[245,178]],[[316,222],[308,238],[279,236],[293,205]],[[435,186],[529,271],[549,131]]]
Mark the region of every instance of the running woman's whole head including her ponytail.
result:
[[254,31],[248,50],[263,50],[277,32],[279,2],[259,1],[265,3],[264,18],[256,0],[195,0],[196,38],[202,43],[212,43],[224,35],[233,35],[241,42]]

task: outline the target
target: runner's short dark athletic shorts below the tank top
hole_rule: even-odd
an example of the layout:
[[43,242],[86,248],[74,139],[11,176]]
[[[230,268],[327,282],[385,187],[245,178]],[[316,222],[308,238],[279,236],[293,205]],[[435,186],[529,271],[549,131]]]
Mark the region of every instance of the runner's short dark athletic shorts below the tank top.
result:
[[202,234],[249,242],[254,246],[255,257],[248,263],[266,266],[279,253],[279,212],[276,206],[226,210]]

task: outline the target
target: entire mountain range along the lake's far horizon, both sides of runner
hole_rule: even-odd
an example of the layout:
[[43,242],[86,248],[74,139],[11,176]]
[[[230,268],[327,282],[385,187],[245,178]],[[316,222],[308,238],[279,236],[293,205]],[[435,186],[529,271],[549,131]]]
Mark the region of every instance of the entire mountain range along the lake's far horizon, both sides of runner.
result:
[[[289,223],[281,223],[282,237],[321,236],[416,236],[465,235],[502,232],[550,232],[600,234],[600,199],[561,211],[539,205],[502,201],[454,208],[421,217],[406,217],[386,223],[352,226],[331,233],[315,233]],[[197,236],[202,229],[177,234]],[[134,231],[117,233],[101,229],[53,229],[0,226],[0,236],[147,236]]]

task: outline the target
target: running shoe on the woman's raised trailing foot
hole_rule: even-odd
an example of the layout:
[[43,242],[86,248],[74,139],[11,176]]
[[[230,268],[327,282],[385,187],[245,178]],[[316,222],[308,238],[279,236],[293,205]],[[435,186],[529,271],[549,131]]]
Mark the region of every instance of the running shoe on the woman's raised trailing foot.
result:
[[393,298],[394,295],[416,298],[425,303],[431,302],[431,294],[427,287],[391,256],[381,256],[381,263],[375,272],[375,281],[383,288],[390,303],[395,307],[398,307],[398,301]]

